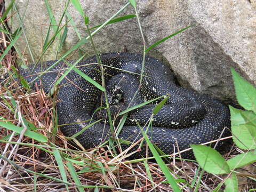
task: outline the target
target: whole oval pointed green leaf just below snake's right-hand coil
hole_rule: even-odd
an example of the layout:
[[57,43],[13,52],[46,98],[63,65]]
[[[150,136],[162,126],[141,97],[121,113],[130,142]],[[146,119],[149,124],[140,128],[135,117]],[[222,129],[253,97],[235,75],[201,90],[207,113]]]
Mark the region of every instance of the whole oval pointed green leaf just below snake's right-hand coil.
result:
[[217,150],[203,145],[190,145],[193,149],[197,163],[212,174],[229,173],[230,169],[225,159]]

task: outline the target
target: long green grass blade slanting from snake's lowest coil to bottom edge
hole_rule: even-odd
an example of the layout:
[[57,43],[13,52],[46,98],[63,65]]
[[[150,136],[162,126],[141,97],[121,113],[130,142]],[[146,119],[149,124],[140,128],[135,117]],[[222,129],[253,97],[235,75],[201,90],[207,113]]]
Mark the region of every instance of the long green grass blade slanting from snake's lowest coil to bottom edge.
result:
[[141,130],[144,139],[146,140],[148,147],[150,149],[150,151],[152,152],[152,154],[154,155],[156,162],[158,163],[158,165],[160,166],[161,170],[163,171],[167,181],[169,182],[169,185],[172,187],[172,189],[176,192],[176,191],[181,191],[179,186],[177,185],[177,182],[175,181],[175,179],[172,177],[172,174],[170,172],[170,170],[168,169],[168,167],[165,165],[163,159],[159,156],[159,154],[157,153],[157,150],[155,149],[155,147],[153,146],[153,144],[149,141],[146,133]]

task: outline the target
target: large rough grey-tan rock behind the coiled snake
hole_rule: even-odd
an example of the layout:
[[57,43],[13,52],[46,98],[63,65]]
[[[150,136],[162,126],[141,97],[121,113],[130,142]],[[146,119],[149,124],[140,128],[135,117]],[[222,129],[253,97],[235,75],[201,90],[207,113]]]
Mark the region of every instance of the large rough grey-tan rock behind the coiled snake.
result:
[[[20,18],[24,18],[22,27],[28,43],[22,35],[17,47],[21,53],[25,53],[29,62],[36,61],[42,54],[43,41],[49,28],[49,14],[42,2],[44,1],[16,1],[18,12],[13,21],[9,20],[14,31],[20,26],[18,14]],[[65,1],[48,2],[59,23]],[[106,0],[80,2],[90,18],[90,26],[105,22],[127,3],[124,0],[112,1],[112,4]],[[6,3],[10,3],[10,0]],[[73,18],[81,37],[87,36],[83,18],[73,5],[69,6],[67,12]],[[167,60],[181,85],[222,100],[235,100],[230,67],[234,67],[247,80],[256,84],[255,1],[139,0],[138,13],[147,47],[175,31],[196,24],[159,44],[149,53],[158,59]],[[134,14],[132,6],[127,7],[119,16],[126,14]],[[73,23],[69,22],[68,26],[68,35],[61,51],[56,51],[60,41],[57,38],[42,60],[61,57],[79,41]],[[51,31],[50,36],[52,34]],[[141,53],[143,50],[135,18],[104,27],[94,35],[93,40],[100,52],[122,52],[127,49],[129,52]],[[88,55],[93,54],[91,44],[86,43],[83,51]],[[76,59],[81,53],[83,52],[76,51],[68,58]]]

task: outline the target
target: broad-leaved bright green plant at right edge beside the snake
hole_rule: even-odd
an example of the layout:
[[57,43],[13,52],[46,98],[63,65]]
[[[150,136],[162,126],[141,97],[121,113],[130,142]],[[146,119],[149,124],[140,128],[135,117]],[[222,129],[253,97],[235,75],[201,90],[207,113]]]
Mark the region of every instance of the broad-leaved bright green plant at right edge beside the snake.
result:
[[[256,162],[256,89],[245,81],[236,71],[231,68],[231,74],[235,85],[236,98],[244,109],[236,109],[229,106],[231,114],[231,132],[233,141],[243,154],[228,159],[223,158],[218,151],[211,147],[191,145],[198,164],[205,171],[212,174],[226,174],[226,179],[218,185],[214,191],[218,191],[225,183],[225,191],[238,191],[237,174],[235,169]],[[253,175],[246,175],[255,181]]]

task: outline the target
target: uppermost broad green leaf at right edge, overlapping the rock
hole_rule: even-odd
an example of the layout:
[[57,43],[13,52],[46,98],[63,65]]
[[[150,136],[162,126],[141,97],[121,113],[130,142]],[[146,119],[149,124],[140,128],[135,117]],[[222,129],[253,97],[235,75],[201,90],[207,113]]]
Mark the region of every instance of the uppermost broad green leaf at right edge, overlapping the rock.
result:
[[246,110],[256,113],[256,89],[231,68],[238,103]]

